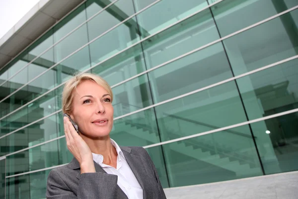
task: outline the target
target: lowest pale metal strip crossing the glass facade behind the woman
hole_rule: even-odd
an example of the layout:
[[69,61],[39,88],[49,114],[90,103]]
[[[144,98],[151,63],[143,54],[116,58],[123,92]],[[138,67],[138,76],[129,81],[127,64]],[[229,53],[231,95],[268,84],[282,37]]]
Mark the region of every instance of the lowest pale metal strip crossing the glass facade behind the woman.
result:
[[[169,140],[169,141],[165,141],[165,142],[159,142],[159,143],[156,143],[156,144],[143,146],[143,148],[148,149],[148,148],[152,148],[152,147],[155,147],[155,146],[160,146],[160,145],[169,144],[169,143],[173,143],[173,142],[177,142],[177,141],[181,141],[181,140],[186,140],[186,139],[191,139],[191,138],[194,138],[194,137],[199,137],[199,136],[203,136],[203,135],[207,135],[207,134],[212,134],[212,133],[227,130],[227,129],[230,129],[230,128],[235,128],[235,127],[239,127],[239,126],[243,126],[243,125],[247,125],[247,124],[251,124],[251,123],[255,123],[255,122],[259,122],[259,121],[264,121],[266,119],[271,119],[271,118],[279,117],[279,116],[286,115],[286,114],[291,114],[291,113],[294,113],[294,112],[298,112],[298,108],[293,109],[293,110],[284,111],[284,112],[277,113],[277,114],[273,114],[273,115],[269,115],[269,116],[266,116],[266,117],[261,117],[261,118],[258,118],[258,119],[253,119],[253,120],[246,121],[246,122],[241,122],[241,123],[234,124],[234,125],[225,126],[223,128],[218,128],[218,129],[215,129],[215,130],[205,131],[205,132],[197,133],[197,134],[190,135],[190,136],[185,136],[185,137],[181,137],[181,138],[177,138],[177,139],[173,139],[173,140]],[[61,167],[61,166],[64,166],[64,165],[67,165],[67,164],[57,165],[57,166],[54,166],[54,167],[48,167],[48,168],[29,171],[29,172],[24,172],[24,173],[21,173],[21,174],[16,174],[16,175],[11,175],[11,176],[6,176],[5,178],[12,178],[12,177],[15,177],[15,176],[22,176],[22,175],[26,175],[26,174],[36,173],[36,172],[40,172],[40,171],[54,169],[54,168]]]

